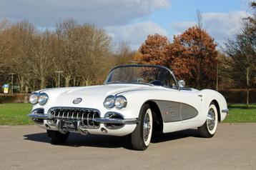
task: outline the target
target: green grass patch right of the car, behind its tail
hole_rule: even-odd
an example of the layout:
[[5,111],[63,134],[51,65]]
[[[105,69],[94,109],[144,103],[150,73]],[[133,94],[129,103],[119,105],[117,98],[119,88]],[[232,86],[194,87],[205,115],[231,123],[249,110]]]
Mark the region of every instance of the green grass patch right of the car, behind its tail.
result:
[[250,105],[249,108],[245,104],[230,104],[228,109],[230,114],[224,123],[256,122],[256,104]]

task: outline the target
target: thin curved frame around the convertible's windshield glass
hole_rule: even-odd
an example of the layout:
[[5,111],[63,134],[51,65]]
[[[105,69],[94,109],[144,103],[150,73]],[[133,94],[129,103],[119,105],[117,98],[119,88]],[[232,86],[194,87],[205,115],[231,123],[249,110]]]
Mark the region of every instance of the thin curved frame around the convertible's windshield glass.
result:
[[[109,79],[109,76],[111,74],[111,72],[114,69],[118,69],[120,67],[155,67],[155,68],[160,68],[160,69],[166,69],[167,71],[169,71],[169,73],[172,75],[172,77],[174,78],[174,81],[176,83],[177,86],[177,90],[179,90],[179,84],[178,81],[176,79],[176,77],[174,76],[174,72],[172,71],[172,69],[168,69],[166,66],[159,66],[159,65],[147,65],[147,64],[127,64],[127,65],[120,65],[120,66],[115,66],[113,69],[111,69],[111,71],[109,71],[109,75],[107,76],[107,79],[104,81],[104,84],[108,84],[106,81]],[[113,83],[114,84],[114,83]],[[127,83],[124,83],[127,84]],[[154,86],[154,84],[152,84]],[[162,86],[165,87],[165,86]]]

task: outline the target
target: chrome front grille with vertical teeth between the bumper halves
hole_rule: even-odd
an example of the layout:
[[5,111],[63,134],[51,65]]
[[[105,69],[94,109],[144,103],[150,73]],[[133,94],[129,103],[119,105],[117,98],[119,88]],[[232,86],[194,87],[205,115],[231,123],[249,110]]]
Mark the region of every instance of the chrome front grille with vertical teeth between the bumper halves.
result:
[[94,121],[99,118],[97,109],[56,107],[49,109],[49,114],[52,115],[55,124],[57,119],[67,119],[79,121],[80,126],[85,129],[99,128],[99,123]]

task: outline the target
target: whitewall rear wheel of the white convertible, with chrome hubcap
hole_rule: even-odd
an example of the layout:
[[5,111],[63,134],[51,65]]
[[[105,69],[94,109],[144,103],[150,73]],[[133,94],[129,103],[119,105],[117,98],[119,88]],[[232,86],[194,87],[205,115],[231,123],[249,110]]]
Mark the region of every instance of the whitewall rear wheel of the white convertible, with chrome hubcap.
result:
[[211,138],[215,135],[218,124],[218,114],[215,104],[211,103],[208,109],[207,119],[205,124],[198,128],[198,131],[202,137]]

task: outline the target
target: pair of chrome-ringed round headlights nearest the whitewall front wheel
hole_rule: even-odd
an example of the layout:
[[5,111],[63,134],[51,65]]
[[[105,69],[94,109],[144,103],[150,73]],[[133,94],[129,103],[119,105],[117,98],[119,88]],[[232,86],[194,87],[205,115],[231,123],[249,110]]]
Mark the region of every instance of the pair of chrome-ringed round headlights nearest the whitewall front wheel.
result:
[[[111,100],[111,103],[110,104],[106,104],[107,101]],[[118,102],[122,103],[121,105],[118,104]],[[104,107],[106,107],[107,109],[112,109],[114,107],[116,107],[117,109],[123,109],[127,106],[127,99],[122,96],[122,95],[119,95],[119,96],[113,96],[113,95],[110,95],[110,96],[107,96],[106,99],[104,100],[103,102],[103,105]]]

